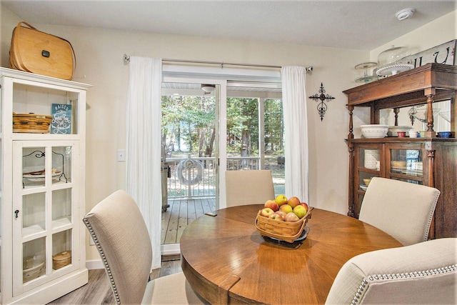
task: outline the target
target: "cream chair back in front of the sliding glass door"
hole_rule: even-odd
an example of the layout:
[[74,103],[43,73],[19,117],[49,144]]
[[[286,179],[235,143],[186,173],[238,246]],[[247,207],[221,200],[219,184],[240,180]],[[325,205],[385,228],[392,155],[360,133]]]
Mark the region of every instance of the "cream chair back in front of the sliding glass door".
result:
[[226,171],[226,203],[230,206],[264,204],[274,199],[270,170]]

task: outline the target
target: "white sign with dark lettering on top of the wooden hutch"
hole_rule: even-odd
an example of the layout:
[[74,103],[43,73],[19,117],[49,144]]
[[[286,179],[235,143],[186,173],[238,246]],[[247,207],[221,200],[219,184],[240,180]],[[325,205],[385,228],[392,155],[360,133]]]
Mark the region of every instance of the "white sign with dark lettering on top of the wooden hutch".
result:
[[411,55],[411,64],[414,68],[424,64],[451,64],[455,63],[456,56],[456,39],[434,46],[426,51]]

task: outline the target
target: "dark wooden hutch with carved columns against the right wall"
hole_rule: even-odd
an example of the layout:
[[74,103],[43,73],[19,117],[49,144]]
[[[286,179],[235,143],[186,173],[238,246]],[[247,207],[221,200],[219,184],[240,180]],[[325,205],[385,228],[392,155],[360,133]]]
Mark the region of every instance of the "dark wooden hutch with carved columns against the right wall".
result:
[[[441,191],[430,238],[457,237],[457,66],[426,64],[385,79],[343,91],[348,96],[349,151],[348,215],[358,217],[365,191],[363,179],[381,176],[436,187]],[[436,137],[433,103],[451,100],[451,138]],[[427,105],[424,138],[354,139],[353,109],[369,107],[370,123],[379,124],[381,109]],[[378,157],[379,164],[366,162]],[[397,161],[403,162],[398,166]],[[405,167],[406,164],[406,167]],[[401,204],[401,202],[398,202]]]

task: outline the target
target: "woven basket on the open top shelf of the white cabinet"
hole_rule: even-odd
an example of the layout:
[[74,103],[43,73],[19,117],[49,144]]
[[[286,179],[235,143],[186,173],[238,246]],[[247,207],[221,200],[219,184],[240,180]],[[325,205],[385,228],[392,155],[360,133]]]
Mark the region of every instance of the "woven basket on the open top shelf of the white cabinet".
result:
[[49,134],[52,116],[45,114],[15,114],[13,112],[13,132]]

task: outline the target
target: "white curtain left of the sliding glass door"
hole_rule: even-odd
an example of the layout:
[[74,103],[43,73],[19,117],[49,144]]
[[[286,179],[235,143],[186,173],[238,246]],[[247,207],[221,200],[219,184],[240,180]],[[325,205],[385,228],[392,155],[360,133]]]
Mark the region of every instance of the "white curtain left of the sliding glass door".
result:
[[[151,236],[152,269],[161,266],[161,59],[130,57],[126,116],[126,191]],[[126,215],[126,221],[129,216]],[[135,236],[131,236],[132,239]]]

